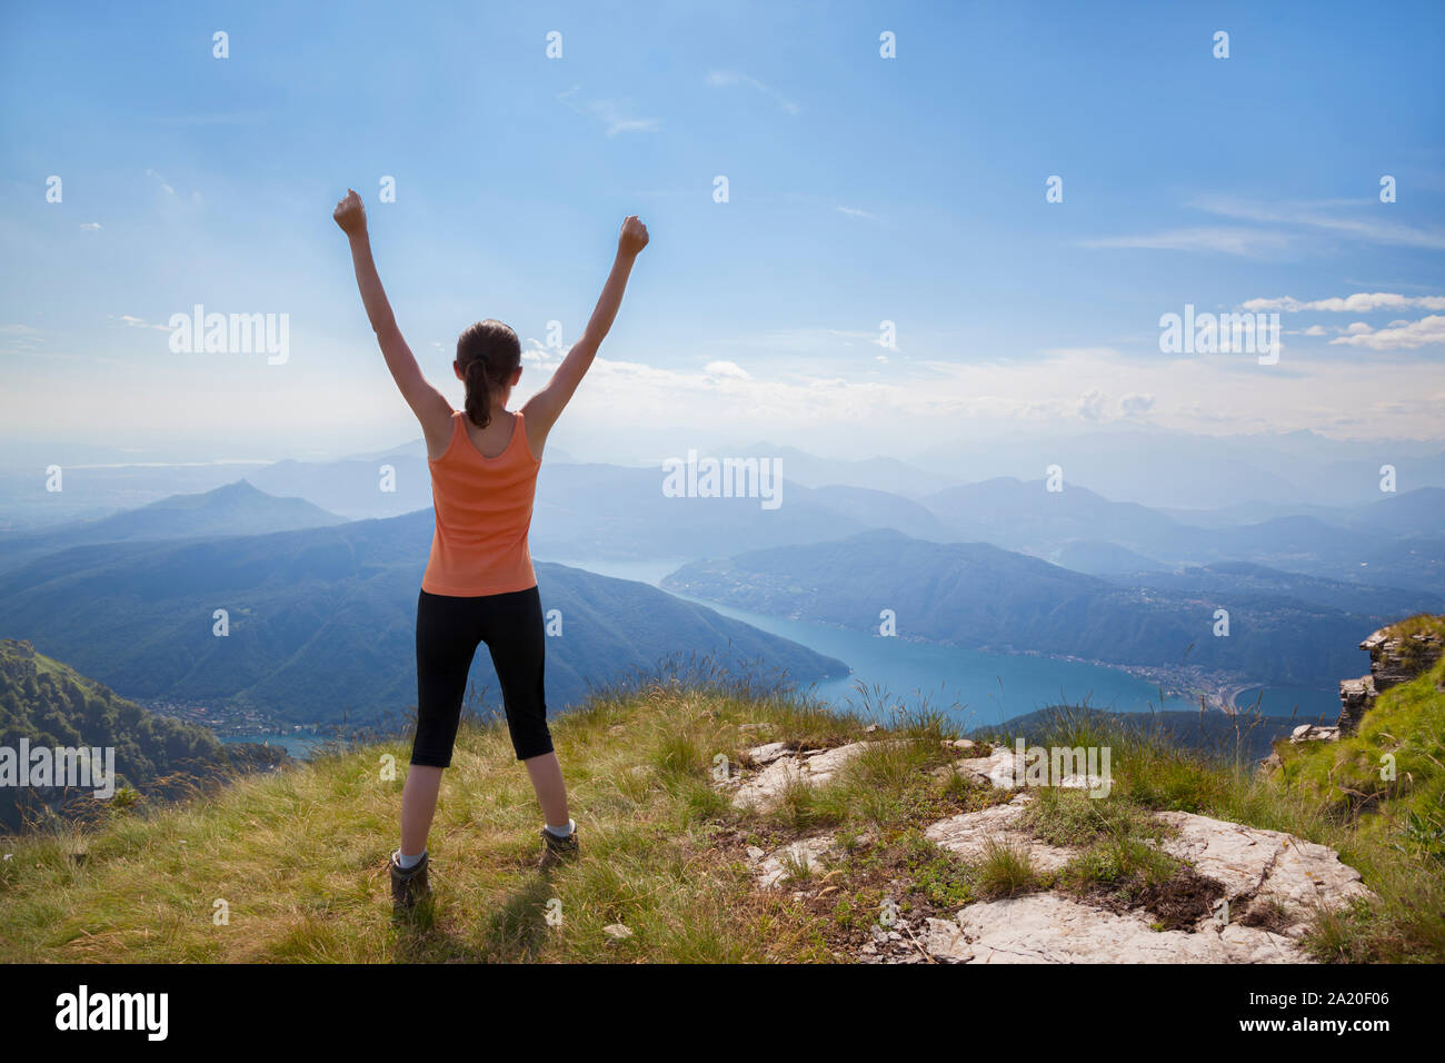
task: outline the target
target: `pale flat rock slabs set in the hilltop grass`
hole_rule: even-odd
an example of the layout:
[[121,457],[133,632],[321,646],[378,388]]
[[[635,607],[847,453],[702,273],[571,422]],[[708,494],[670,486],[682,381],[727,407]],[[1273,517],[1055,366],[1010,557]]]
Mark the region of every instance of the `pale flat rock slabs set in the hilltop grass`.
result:
[[[1329,729],[1314,729],[1328,732]],[[1312,733],[1302,740],[1319,740]],[[980,788],[1017,788],[1019,756],[1006,746],[949,742],[962,758],[941,771]],[[825,782],[864,748],[798,751],[782,742],[750,749],[737,787],[738,807],[767,807],[789,785]],[[968,756],[968,754],[974,754]],[[1077,894],[1058,875],[1085,849],[1053,845],[1029,826],[1027,791],[1009,801],[938,820],[923,836],[959,861],[978,865],[997,848],[1025,856],[1035,892],[980,900],[954,918],[936,908],[912,918],[896,905],[867,940],[855,943],[864,963],[1306,963],[1299,939],[1322,911],[1370,898],[1360,872],[1328,846],[1279,830],[1248,827],[1186,811],[1153,813],[1159,830],[1140,836],[1179,862],[1168,882],[1139,894]],[[1162,840],[1149,840],[1160,837]],[[871,843],[871,836],[857,843]],[[747,866],[764,891],[789,891],[793,901],[828,904],[847,875],[838,836],[814,833],[772,850],[747,848]],[[845,879],[842,879],[845,881]],[[894,879],[890,888],[906,889]]]

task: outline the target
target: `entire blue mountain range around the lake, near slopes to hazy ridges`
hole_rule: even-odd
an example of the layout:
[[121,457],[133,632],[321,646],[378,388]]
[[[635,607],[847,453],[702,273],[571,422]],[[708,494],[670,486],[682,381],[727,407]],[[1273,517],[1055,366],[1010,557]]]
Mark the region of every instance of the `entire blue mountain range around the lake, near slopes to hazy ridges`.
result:
[[[905,463],[779,450],[776,509],[669,498],[656,467],[543,464],[532,551],[543,602],[564,618],[549,646],[556,704],[678,655],[762,658],[801,680],[845,665],[549,558],[672,563],[665,586],[763,613],[866,629],[892,607],[907,638],[1130,665],[1188,658],[1272,683],[1316,684],[1341,665],[1315,646],[1442,607],[1441,487],[1305,512],[1259,506],[1264,519],[1250,521],[1248,506],[1165,512],[1068,480],[912,492],[931,476]],[[842,476],[855,483],[825,482]],[[405,714],[428,503],[425,454],[407,444],[282,461],[210,492],[0,535],[0,635],[133,697],[218,699],[308,723]],[[345,519],[377,511],[402,512]],[[225,638],[211,635],[217,609]],[[1230,610],[1228,639],[1209,636],[1214,609]],[[494,693],[478,657],[474,680]]]

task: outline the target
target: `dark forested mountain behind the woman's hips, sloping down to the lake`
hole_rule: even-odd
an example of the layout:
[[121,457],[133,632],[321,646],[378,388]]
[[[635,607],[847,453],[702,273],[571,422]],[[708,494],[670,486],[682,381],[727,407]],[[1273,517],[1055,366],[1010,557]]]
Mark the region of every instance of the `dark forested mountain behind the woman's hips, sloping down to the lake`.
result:
[[[0,635],[32,641],[129,697],[221,701],[282,720],[403,720],[429,509],[233,537],[72,547],[0,574]],[[806,681],[847,665],[655,587],[539,563],[548,701],[705,657]],[[227,633],[218,636],[217,610]],[[751,665],[757,665],[753,668]],[[487,654],[473,668],[496,701]]]

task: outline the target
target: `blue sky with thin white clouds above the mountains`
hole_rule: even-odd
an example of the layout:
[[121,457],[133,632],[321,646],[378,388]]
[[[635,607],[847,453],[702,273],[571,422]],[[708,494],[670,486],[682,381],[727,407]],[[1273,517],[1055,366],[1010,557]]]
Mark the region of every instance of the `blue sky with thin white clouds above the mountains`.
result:
[[[329,218],[348,185],[457,404],[457,333],[513,324],[529,392],[548,323],[577,337],[642,214],[568,450],[640,424],[838,453],[1111,424],[1445,435],[1438,3],[12,4],[0,25],[12,438],[105,425],[204,458],[415,437]],[[197,302],[288,314],[286,364],[172,353]],[[1185,304],[1277,309],[1280,363],[1160,353]]]

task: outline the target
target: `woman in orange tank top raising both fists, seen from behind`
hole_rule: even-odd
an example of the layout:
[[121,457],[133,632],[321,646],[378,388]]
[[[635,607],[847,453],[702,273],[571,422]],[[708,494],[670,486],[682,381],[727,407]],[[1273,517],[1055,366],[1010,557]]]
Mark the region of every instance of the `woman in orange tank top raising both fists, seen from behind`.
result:
[[627,276],[647,246],[647,227],[630,215],[617,259],[587,331],[546,386],[520,409],[507,399],[522,377],[522,344],[500,321],[478,321],[457,340],[452,372],[467,385],[464,409],[422,376],[381,289],[361,197],[332,214],[351,242],[361,302],[386,366],[426,438],[436,529],[416,603],[416,738],[402,791],[402,848],[392,853],[392,898],[410,907],[426,894],[426,834],[436,811],[442,769],[451,764],[467,673],[487,644],[501,683],[507,730],[542,806],[543,871],[577,855],[562,768],[546,726],[542,670],[545,633],[527,528],[542,450],[572,392],[617,317]]

